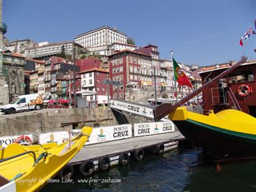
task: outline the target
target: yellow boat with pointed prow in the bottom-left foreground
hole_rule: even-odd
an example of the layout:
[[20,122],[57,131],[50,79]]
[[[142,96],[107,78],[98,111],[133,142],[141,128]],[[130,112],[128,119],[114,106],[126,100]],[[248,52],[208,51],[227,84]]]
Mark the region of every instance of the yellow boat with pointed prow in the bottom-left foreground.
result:
[[[1,189],[4,191],[4,188],[12,189],[12,191],[14,189],[15,191],[41,189],[80,151],[91,135],[91,131],[91,127],[84,127],[81,135],[60,145],[49,143],[41,147],[40,145],[22,146],[14,143],[0,149],[0,161],[5,159],[0,162],[0,180],[5,178],[9,181],[7,185],[0,187],[0,191]],[[21,153],[25,154],[6,160]]]

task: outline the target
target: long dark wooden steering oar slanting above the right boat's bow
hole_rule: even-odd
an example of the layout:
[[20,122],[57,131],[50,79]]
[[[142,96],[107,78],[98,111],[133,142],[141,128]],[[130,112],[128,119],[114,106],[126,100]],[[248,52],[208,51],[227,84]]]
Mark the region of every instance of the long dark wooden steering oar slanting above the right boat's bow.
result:
[[200,92],[202,92],[203,89],[211,86],[214,82],[220,80],[221,78],[223,78],[223,76],[226,76],[227,74],[232,72],[234,69],[236,69],[238,66],[240,66],[241,64],[244,64],[246,61],[247,61],[247,57],[242,56],[241,60],[239,62],[237,62],[236,64],[234,64],[232,67],[228,68],[227,70],[223,71],[221,74],[219,74],[218,76],[216,76],[215,78],[213,78],[209,82],[205,83],[205,85],[202,85],[198,89],[194,90],[192,93],[190,93],[186,97],[182,98],[180,101],[178,101],[174,105],[171,105],[169,103],[164,103],[162,105],[159,105],[158,107],[156,107],[153,110],[154,120],[155,121],[161,120],[161,118],[163,118],[164,116],[167,116],[170,112],[173,112],[174,110],[176,110],[177,107],[180,107],[180,106],[184,105],[190,99],[192,99],[193,97],[198,95]]

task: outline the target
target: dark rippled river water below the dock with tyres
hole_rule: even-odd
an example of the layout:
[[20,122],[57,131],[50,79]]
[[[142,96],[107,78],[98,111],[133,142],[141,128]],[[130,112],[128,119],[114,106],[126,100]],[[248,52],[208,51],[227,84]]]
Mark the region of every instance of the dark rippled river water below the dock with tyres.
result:
[[127,166],[72,181],[49,183],[42,191],[256,191],[256,160],[217,168],[201,149],[179,146],[163,155],[146,155]]

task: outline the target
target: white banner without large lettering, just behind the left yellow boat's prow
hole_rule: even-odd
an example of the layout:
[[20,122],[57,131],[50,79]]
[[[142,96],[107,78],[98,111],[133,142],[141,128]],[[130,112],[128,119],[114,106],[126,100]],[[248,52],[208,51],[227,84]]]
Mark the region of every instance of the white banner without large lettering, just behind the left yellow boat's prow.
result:
[[57,142],[58,144],[63,143],[64,139],[68,139],[68,131],[58,131],[58,132],[51,132],[51,133],[41,133],[39,135],[39,143],[50,143],[50,142]]

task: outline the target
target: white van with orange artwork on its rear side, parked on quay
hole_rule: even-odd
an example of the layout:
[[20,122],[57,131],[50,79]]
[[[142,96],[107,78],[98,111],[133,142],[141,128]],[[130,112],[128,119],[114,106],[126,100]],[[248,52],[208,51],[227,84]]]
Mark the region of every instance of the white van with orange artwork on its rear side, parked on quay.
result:
[[1,112],[5,114],[14,114],[16,112],[27,110],[40,110],[43,107],[43,97],[39,94],[20,95],[11,103],[3,105]]

